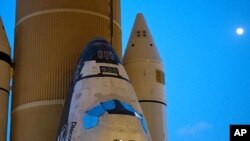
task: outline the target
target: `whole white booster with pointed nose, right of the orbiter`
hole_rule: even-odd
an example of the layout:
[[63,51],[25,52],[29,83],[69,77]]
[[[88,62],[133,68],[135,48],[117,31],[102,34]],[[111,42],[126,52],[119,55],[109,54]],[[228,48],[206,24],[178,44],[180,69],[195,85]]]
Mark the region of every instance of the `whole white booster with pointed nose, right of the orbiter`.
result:
[[138,14],[123,65],[135,89],[153,141],[166,141],[166,96],[162,60],[142,14]]

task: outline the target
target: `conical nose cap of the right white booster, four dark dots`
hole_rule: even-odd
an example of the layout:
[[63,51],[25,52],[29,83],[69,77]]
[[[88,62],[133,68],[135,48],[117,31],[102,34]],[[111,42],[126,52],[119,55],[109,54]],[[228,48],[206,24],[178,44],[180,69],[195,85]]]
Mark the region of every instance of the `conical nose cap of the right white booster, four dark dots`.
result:
[[139,60],[161,62],[161,58],[151,36],[150,30],[146,24],[143,14],[141,13],[136,16],[123,57],[123,63]]

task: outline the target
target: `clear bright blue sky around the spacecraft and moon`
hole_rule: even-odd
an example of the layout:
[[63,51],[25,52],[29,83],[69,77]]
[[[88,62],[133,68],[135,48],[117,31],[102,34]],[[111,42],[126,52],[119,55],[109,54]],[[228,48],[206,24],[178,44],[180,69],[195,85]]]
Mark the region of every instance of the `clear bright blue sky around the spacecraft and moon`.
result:
[[[123,49],[142,12],[164,61],[169,141],[228,141],[250,124],[249,0],[123,0]],[[15,1],[0,15],[13,47]],[[238,36],[237,27],[245,34]]]

